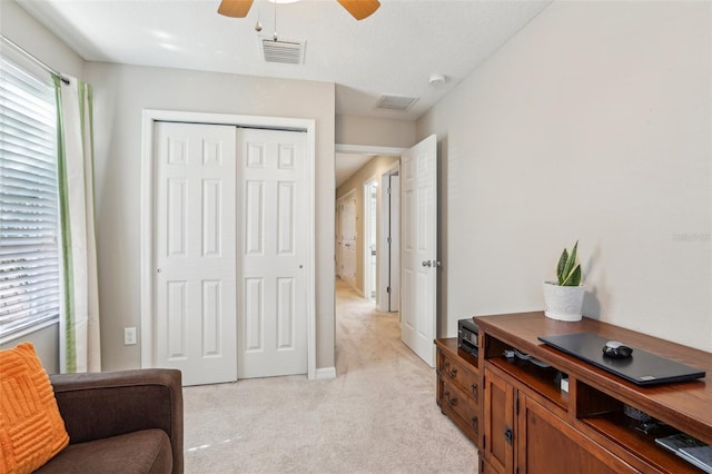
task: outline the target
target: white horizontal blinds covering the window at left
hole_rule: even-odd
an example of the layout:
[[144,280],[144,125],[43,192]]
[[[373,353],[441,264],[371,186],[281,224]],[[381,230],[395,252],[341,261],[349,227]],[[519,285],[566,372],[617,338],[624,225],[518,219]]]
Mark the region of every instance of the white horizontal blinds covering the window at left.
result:
[[0,59],[0,343],[58,320],[56,99]]

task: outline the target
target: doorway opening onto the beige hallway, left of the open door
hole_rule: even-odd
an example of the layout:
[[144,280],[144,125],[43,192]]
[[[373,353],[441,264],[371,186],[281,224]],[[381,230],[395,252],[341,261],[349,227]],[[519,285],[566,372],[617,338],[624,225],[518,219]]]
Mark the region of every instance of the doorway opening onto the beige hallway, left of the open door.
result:
[[[337,145],[337,150],[339,146]],[[373,151],[373,150],[368,150]],[[389,176],[399,170],[399,152],[336,154],[336,327],[342,318],[353,316],[355,308],[363,317],[363,329],[385,320],[400,325],[398,293],[390,293],[392,276],[398,278],[399,190],[392,189]],[[339,162],[340,160],[340,162]],[[346,161],[346,162],[344,162]],[[339,178],[339,172],[350,170]],[[353,244],[353,246],[352,246]],[[393,256],[393,257],[392,257]],[[366,310],[370,308],[370,310]],[[357,319],[358,320],[358,319]],[[393,334],[369,333],[383,344],[395,344]],[[353,335],[352,335],[353,336]],[[338,340],[337,336],[337,340]],[[337,348],[336,366],[339,366]]]

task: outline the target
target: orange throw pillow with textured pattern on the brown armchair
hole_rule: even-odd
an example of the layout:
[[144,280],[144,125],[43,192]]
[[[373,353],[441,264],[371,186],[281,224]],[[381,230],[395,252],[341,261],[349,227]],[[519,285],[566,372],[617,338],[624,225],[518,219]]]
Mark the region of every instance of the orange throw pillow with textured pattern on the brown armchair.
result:
[[69,444],[34,346],[0,350],[0,472],[31,473]]

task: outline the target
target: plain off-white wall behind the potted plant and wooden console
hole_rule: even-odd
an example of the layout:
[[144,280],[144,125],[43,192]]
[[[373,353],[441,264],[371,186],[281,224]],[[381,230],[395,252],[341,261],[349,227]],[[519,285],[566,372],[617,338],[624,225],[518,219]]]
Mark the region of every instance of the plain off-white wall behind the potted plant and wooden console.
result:
[[712,350],[710,2],[554,2],[417,122],[446,181],[446,332],[543,308]]

